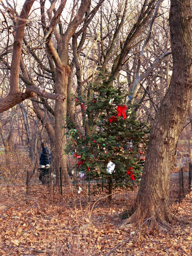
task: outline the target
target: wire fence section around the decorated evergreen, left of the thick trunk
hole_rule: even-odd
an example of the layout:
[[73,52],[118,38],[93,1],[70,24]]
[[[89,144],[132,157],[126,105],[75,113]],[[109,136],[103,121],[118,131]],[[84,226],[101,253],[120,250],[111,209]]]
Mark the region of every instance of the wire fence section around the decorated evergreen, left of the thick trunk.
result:
[[[109,184],[108,180],[103,178],[91,179],[90,177],[71,175],[67,180],[65,177],[65,179],[57,181],[54,174],[48,169],[44,180],[41,179],[41,170],[33,175],[27,172],[26,185],[28,198],[51,201],[53,204],[66,202],[73,206],[79,203],[86,205],[97,200],[100,200],[100,203],[108,201]],[[127,184],[124,181],[121,188],[113,188],[112,202],[117,204],[122,201],[127,201],[127,203],[130,201],[131,203],[137,195],[138,185],[137,182],[135,184],[130,182],[129,188],[126,188]]]

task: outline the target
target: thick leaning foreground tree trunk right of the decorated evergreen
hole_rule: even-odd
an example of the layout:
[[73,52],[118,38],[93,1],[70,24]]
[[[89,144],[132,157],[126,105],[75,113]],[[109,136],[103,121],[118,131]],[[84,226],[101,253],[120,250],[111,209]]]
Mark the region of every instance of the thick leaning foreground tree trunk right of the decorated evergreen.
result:
[[139,193],[133,205],[134,213],[128,222],[152,216],[161,222],[172,221],[173,215],[168,205],[170,169],[192,99],[191,17],[190,0],[171,0],[169,21],[173,73],[151,128]]

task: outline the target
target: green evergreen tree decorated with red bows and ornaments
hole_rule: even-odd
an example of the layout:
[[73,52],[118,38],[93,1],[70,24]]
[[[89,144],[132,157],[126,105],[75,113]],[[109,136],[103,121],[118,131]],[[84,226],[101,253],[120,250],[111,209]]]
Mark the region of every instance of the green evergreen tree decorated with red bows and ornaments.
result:
[[111,194],[112,186],[132,187],[140,179],[149,129],[137,120],[125,91],[104,84],[92,87],[91,100],[76,98],[85,108],[90,134],[71,129],[67,151],[79,160],[81,176],[106,179]]

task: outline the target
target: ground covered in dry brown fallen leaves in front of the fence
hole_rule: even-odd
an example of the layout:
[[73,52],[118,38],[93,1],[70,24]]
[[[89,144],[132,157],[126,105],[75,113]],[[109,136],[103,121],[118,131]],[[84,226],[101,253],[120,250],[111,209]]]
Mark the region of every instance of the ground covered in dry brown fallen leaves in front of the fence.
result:
[[173,206],[188,223],[153,233],[119,228],[125,202],[74,209],[25,204],[24,194],[24,187],[0,188],[0,255],[191,255],[192,192]]

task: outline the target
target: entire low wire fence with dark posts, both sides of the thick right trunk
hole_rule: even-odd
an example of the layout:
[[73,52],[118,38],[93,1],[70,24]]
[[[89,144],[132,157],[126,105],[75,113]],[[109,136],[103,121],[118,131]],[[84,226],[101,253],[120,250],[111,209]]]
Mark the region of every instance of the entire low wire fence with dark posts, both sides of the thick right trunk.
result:
[[[69,176],[60,170],[59,180],[56,180],[55,175],[50,169],[47,169],[42,178],[42,171],[38,169],[36,172],[27,172],[27,196],[30,199],[38,201],[50,202],[58,204],[60,202],[69,205],[79,204],[86,205],[89,202],[97,200],[101,202],[108,201],[109,183],[108,180],[98,178],[85,178],[84,175],[77,174],[75,165],[72,167],[74,174]],[[180,202],[191,188],[192,164],[189,164],[189,169],[186,171],[183,168],[180,172],[172,173],[170,176],[170,202]],[[126,202],[132,204],[135,199],[139,182],[129,184],[122,183],[121,188],[113,188],[111,203]],[[110,197],[111,198],[111,197]]]

